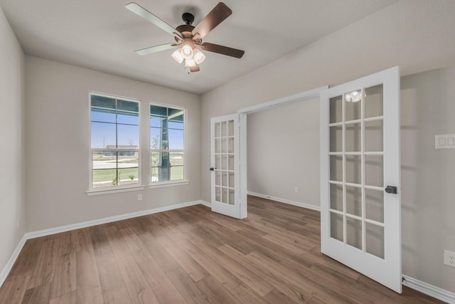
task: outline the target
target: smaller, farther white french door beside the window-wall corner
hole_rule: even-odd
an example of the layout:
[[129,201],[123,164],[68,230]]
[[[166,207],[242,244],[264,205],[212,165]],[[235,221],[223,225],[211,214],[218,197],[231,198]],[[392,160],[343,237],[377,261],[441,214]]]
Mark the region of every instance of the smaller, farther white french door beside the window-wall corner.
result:
[[212,211],[242,219],[246,217],[246,194],[241,209],[240,115],[211,118],[210,144]]

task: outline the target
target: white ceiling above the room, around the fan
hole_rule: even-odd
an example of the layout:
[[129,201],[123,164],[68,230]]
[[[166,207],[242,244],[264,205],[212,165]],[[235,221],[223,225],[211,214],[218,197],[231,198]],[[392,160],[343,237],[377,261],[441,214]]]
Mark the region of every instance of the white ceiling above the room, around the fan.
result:
[[[396,0],[225,0],[233,13],[204,41],[245,50],[241,59],[206,53],[188,75],[171,50],[134,50],[173,37],[125,9],[130,0],[0,0],[23,51],[32,56],[202,94],[333,33]],[[171,26],[196,25],[215,0],[134,0]]]

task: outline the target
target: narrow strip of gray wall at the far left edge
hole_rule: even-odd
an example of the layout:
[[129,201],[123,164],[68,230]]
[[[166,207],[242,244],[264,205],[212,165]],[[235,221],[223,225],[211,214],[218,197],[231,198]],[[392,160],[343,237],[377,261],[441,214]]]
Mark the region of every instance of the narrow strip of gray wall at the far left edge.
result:
[[23,194],[24,56],[1,9],[0,67],[1,271],[26,231]]

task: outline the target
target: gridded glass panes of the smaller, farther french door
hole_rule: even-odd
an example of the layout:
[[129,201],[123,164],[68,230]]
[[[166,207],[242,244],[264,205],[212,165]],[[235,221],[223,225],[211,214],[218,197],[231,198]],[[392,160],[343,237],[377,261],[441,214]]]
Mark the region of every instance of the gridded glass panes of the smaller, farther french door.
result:
[[215,122],[215,200],[233,205],[234,120]]

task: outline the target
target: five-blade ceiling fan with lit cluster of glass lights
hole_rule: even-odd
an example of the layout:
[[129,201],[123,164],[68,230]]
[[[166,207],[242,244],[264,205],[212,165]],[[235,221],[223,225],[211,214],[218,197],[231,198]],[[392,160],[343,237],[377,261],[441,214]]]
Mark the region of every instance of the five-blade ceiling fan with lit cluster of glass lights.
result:
[[137,14],[147,21],[154,23],[154,25],[158,26],[167,33],[170,33],[176,40],[176,43],[166,43],[161,44],[160,46],[151,46],[150,48],[137,50],[136,53],[139,55],[146,55],[166,51],[171,48],[177,48],[176,51],[172,53],[172,57],[178,63],[185,61],[185,65],[190,68],[191,72],[197,72],[200,70],[199,64],[205,60],[205,55],[201,50],[235,58],[242,58],[245,53],[245,51],[237,50],[236,48],[202,42],[202,39],[210,33],[213,28],[218,26],[218,24],[232,14],[231,9],[223,2],[218,3],[197,26],[192,25],[194,21],[193,14],[184,13],[182,15],[182,19],[185,24],[177,26],[176,28],[173,28],[165,21],[162,21],[154,14],[151,14],[151,12],[147,11],[137,3],[131,2],[125,7],[134,14]]

